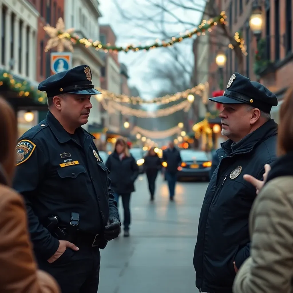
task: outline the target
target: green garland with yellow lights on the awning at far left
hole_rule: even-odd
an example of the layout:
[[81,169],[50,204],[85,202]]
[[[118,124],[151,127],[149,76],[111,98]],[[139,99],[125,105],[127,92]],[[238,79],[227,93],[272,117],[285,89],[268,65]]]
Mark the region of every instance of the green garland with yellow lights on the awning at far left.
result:
[[0,92],[10,89],[20,97],[28,97],[34,100],[35,103],[46,104],[47,95],[32,86],[30,82],[14,77],[9,71],[0,71]]

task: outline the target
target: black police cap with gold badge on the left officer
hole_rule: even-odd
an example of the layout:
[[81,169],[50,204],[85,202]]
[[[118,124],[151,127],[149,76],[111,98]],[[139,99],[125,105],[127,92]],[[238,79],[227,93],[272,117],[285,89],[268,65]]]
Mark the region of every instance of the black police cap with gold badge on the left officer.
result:
[[79,95],[100,94],[91,82],[91,69],[88,65],[76,66],[72,69],[58,72],[42,81],[39,91],[45,91],[52,98],[61,93],[76,93]]

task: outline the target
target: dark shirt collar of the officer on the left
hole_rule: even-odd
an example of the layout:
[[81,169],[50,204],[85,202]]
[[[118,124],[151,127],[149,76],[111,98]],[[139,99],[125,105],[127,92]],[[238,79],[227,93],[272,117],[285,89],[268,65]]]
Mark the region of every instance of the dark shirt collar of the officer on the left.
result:
[[[63,128],[60,122],[54,117],[54,115],[50,111],[48,111],[47,113],[46,121],[60,143],[68,142],[72,139],[69,133]],[[93,135],[89,134],[82,127],[77,128],[77,130],[82,133],[82,136],[84,136],[85,139],[95,139]]]

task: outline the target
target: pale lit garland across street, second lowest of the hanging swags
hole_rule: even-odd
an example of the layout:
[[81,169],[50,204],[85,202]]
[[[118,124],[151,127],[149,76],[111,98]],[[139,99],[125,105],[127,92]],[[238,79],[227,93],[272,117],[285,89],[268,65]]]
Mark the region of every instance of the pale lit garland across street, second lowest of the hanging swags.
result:
[[173,105],[164,109],[159,109],[156,111],[145,111],[141,109],[133,109],[133,108],[129,108],[127,106],[121,105],[119,103],[113,102],[111,100],[108,101],[108,103],[106,103],[105,100],[101,100],[100,102],[102,106],[104,107],[104,109],[108,111],[108,113],[115,113],[115,110],[117,110],[121,112],[122,115],[136,116],[140,118],[163,117],[163,116],[171,115],[180,110],[184,110],[184,112],[188,112],[191,107],[191,103],[188,102],[188,100],[185,100],[176,105]]

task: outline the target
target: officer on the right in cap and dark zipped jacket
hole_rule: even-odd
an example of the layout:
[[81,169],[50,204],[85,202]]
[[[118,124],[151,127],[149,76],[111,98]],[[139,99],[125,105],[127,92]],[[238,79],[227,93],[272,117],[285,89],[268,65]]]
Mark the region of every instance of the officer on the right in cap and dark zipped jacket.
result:
[[193,265],[200,292],[230,293],[236,272],[249,256],[248,217],[256,193],[243,179],[261,180],[265,164],[276,158],[277,124],[271,119],[276,96],[258,82],[232,74],[222,103],[222,134],[229,139],[217,150],[220,162],[200,213]]

